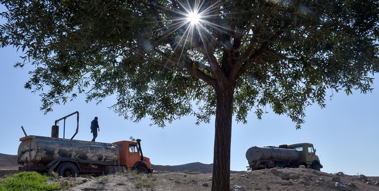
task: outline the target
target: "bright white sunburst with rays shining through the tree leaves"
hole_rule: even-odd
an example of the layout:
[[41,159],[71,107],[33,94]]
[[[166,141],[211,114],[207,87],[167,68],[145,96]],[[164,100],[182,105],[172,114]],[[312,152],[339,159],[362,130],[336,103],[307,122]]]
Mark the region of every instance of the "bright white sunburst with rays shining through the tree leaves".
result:
[[[212,33],[230,32],[229,28],[220,24],[220,19],[228,14],[221,11],[223,5],[220,1],[213,4],[207,4],[206,0],[177,1],[178,7],[167,3],[171,6],[159,8],[169,14],[160,15],[162,19],[157,21],[161,24],[159,30],[164,33],[161,39],[172,40],[169,44],[171,55],[167,62],[176,61],[179,64],[184,56],[188,56],[185,55],[186,50],[191,48],[204,53],[210,41],[217,40]],[[171,57],[176,57],[174,52],[180,52],[180,56],[171,60]]]

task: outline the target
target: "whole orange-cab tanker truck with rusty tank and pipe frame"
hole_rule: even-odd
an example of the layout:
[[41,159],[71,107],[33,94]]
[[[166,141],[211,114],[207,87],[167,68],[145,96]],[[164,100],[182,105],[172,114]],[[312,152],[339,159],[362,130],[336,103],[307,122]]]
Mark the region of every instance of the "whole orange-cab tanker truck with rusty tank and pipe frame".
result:
[[137,170],[152,173],[149,157],[142,154],[141,140],[119,141],[114,143],[99,143],[90,141],[58,138],[57,121],[79,113],[74,112],[55,121],[51,137],[27,135],[20,138],[18,147],[18,163],[21,171],[38,171],[51,174],[56,172],[63,177],[75,177],[79,174],[113,174],[126,170]]

